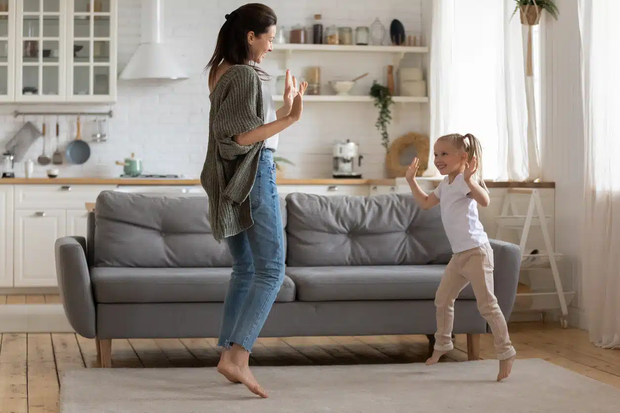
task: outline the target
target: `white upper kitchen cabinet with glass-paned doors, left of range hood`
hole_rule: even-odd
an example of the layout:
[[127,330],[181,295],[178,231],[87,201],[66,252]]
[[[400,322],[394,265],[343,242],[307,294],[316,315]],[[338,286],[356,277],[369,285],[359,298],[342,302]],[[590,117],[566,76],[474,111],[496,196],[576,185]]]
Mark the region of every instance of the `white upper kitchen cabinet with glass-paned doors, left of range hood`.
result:
[[0,7],[0,99],[115,102],[117,0],[3,1],[8,10]]

